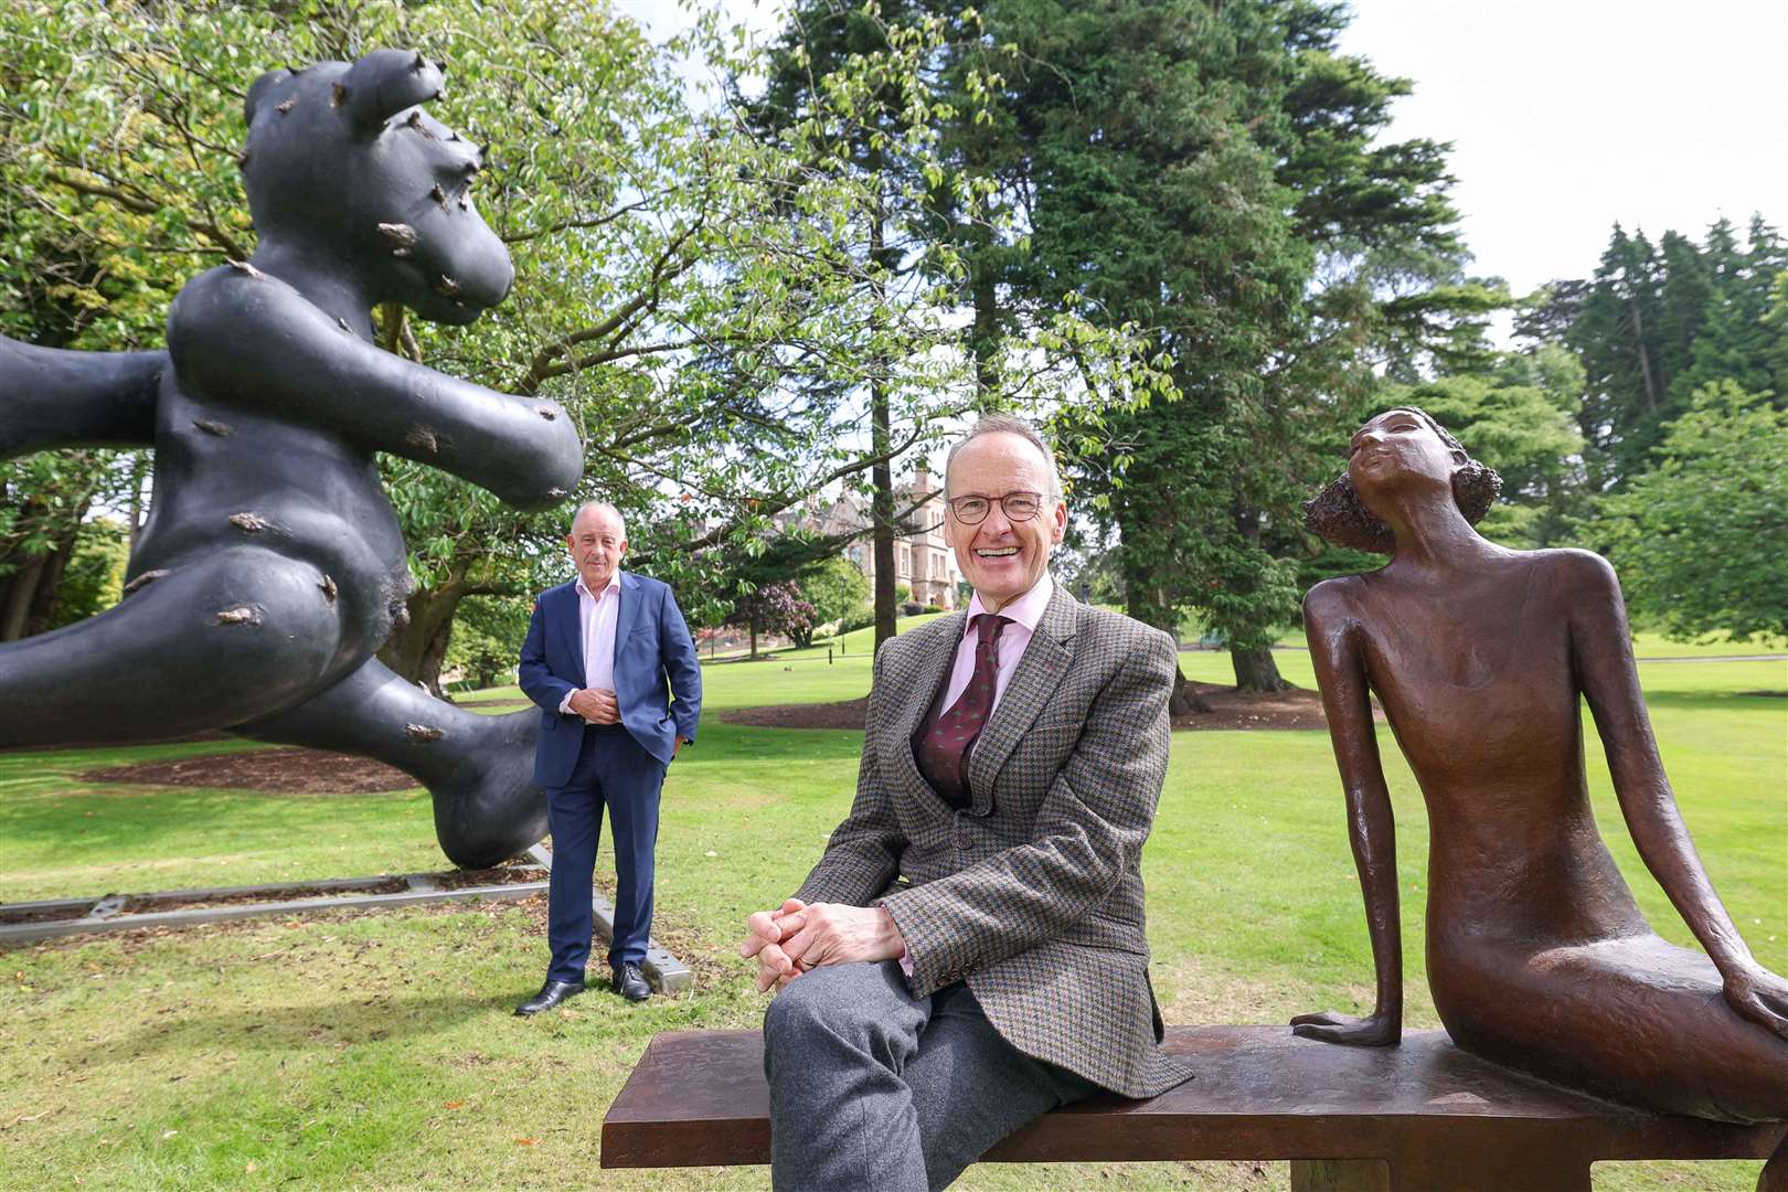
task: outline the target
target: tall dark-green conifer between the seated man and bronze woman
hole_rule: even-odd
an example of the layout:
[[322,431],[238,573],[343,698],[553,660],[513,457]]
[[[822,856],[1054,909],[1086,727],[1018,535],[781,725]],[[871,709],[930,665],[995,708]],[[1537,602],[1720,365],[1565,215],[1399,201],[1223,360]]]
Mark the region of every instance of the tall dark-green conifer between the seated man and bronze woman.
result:
[[1282,686],[1296,500],[1366,348],[1457,356],[1495,302],[1459,273],[1443,147],[1375,143],[1407,82],[1339,54],[1337,4],[1014,0],[987,23],[1032,229],[1010,288],[1148,329],[1182,395],[1058,425],[1126,609],[1166,631],[1200,609],[1239,686]]

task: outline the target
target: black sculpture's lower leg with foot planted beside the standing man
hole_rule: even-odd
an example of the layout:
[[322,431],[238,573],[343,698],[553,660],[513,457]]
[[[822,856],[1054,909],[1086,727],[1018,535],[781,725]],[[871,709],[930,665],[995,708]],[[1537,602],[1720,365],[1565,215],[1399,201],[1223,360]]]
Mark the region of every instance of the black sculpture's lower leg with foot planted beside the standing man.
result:
[[540,713],[481,717],[434,699],[379,659],[297,708],[231,731],[375,758],[413,774],[434,799],[434,835],[454,865],[495,865],[547,833],[547,801],[535,786]]

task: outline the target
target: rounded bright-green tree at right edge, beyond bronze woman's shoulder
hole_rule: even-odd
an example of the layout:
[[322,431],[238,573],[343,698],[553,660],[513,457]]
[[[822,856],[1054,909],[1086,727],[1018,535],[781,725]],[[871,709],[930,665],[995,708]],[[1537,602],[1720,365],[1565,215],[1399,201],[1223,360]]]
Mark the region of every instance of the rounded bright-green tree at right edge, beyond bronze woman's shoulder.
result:
[[1733,381],[1665,427],[1657,466],[1602,500],[1600,547],[1627,602],[1675,638],[1788,634],[1788,411]]

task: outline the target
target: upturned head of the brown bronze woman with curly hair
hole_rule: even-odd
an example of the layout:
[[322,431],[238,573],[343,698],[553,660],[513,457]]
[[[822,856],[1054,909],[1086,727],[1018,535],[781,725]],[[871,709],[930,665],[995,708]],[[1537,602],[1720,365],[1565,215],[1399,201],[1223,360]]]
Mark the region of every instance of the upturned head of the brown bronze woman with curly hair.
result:
[[1427,411],[1398,406],[1371,418],[1348,443],[1348,465],[1328,488],[1303,502],[1303,524],[1337,547],[1391,554],[1396,536],[1375,508],[1393,497],[1452,500],[1477,525],[1502,477],[1484,466]]

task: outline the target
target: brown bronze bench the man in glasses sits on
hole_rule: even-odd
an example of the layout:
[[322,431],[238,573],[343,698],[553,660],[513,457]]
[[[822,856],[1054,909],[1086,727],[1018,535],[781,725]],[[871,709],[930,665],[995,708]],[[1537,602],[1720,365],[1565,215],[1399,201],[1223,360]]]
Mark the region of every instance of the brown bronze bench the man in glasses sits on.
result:
[[[1336,1047],[1282,1026],[1175,1026],[1198,1078],[1151,1101],[1050,1113],[994,1163],[1291,1160],[1302,1192],[1588,1190],[1598,1160],[1767,1158],[1788,1124],[1659,1117],[1470,1056],[1441,1031],[1402,1047]],[[653,1038],[603,1119],[603,1167],[767,1163],[758,1031]]]

